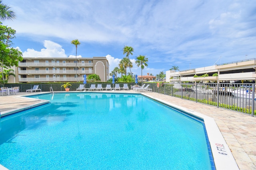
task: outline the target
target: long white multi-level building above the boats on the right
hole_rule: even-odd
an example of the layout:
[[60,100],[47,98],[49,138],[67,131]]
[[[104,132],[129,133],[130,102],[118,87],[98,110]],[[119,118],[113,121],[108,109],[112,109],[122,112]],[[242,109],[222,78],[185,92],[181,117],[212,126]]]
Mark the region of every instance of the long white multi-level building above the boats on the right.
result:
[[[256,59],[247,59],[178,72],[175,72],[174,70],[168,70],[166,71],[166,82],[255,81],[255,69]],[[209,76],[194,77],[194,75],[202,76],[204,74],[208,74]]]

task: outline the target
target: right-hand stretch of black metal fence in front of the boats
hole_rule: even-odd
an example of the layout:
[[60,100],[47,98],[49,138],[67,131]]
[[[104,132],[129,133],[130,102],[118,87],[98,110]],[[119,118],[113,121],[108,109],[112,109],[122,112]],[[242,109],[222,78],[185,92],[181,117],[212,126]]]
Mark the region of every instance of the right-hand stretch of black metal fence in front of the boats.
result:
[[255,84],[160,83],[159,88],[156,83],[147,84],[150,84],[152,92],[256,115]]

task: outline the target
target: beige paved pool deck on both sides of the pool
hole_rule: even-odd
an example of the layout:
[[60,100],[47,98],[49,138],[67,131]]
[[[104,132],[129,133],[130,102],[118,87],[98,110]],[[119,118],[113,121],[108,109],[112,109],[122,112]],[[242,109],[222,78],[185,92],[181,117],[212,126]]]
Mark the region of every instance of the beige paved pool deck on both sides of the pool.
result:
[[[127,93],[128,91],[125,92]],[[30,93],[0,96],[1,115],[2,113],[20,107],[33,106],[42,103],[42,100],[20,97],[28,94]],[[40,94],[40,92],[33,94]],[[256,170],[256,117],[155,92],[146,92],[144,94],[212,117],[230,148],[239,169]]]

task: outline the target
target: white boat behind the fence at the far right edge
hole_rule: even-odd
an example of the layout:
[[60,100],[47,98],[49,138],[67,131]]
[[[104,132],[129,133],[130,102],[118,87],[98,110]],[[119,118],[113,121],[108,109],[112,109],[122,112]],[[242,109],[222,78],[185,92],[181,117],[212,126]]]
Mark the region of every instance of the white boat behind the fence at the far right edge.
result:
[[[252,86],[240,86],[232,91],[232,95],[238,98],[252,99]],[[256,100],[256,90],[254,90],[254,100]]]

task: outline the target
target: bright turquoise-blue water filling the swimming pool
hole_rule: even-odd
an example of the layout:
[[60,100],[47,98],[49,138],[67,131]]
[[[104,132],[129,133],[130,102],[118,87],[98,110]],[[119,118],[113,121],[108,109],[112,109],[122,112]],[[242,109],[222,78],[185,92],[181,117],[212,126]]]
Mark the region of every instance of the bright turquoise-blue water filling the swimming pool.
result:
[[204,123],[144,96],[33,98],[51,103],[0,119],[0,164],[10,170],[214,169]]

